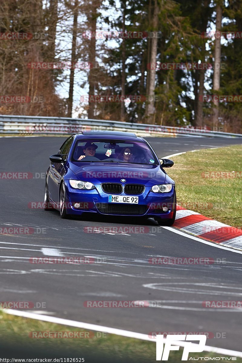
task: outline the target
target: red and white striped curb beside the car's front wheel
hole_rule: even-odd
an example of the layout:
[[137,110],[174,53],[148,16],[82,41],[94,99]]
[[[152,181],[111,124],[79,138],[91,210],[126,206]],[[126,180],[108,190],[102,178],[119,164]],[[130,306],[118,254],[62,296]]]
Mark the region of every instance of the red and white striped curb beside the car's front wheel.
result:
[[173,227],[198,236],[206,241],[242,250],[242,229],[231,227],[177,205]]

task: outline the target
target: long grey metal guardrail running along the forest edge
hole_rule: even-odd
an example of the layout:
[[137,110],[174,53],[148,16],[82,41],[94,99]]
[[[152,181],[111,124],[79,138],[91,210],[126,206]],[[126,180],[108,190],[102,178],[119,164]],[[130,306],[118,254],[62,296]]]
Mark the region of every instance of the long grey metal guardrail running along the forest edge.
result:
[[140,136],[210,136],[223,138],[242,138],[242,134],[230,132],[211,131],[206,129],[194,129],[189,127],[170,127],[148,125],[143,123],[131,123],[120,121],[106,121],[96,119],[75,119],[65,117],[38,117],[0,115],[0,134],[16,135],[57,135],[74,134],[82,130],[113,130],[132,131]]

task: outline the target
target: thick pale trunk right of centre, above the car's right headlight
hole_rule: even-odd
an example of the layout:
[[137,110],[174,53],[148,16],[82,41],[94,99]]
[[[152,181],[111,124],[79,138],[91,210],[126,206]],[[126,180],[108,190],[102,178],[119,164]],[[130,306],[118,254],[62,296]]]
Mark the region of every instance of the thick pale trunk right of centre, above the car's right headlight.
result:
[[[154,0],[154,11],[153,11],[153,32],[157,31],[158,27],[158,4],[157,0]],[[152,64],[156,64],[156,56],[157,56],[157,36],[154,36],[151,39],[151,57],[150,62]],[[147,122],[152,123],[153,117],[155,114],[155,76],[156,76],[156,67],[151,67],[149,70],[149,84],[148,84],[148,103],[146,107],[146,116]]]

